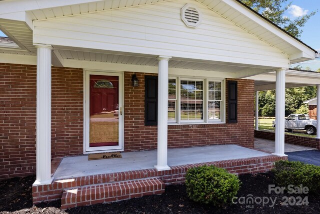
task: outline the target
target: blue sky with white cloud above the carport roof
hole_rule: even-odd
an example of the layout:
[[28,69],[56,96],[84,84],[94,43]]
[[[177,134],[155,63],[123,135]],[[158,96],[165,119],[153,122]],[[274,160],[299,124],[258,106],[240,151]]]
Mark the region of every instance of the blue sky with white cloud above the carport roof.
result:
[[[288,0],[287,3],[289,2],[292,4],[285,16],[290,19],[309,14],[312,11],[318,11],[302,28],[303,33],[299,39],[320,53],[320,0]],[[1,36],[5,35],[0,31]],[[320,59],[305,61],[299,63],[299,65],[302,66],[302,69],[309,67],[312,71],[315,71],[320,68]],[[292,65],[292,67],[294,66],[296,64]]]

